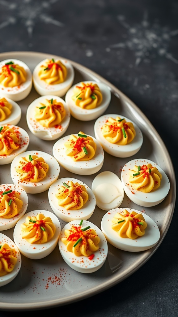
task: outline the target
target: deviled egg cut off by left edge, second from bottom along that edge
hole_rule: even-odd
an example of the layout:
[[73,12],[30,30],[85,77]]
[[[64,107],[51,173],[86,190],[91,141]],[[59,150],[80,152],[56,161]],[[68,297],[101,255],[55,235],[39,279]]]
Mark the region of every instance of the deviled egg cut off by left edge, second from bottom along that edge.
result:
[[15,184],[0,185],[0,230],[13,228],[28,207],[27,193]]

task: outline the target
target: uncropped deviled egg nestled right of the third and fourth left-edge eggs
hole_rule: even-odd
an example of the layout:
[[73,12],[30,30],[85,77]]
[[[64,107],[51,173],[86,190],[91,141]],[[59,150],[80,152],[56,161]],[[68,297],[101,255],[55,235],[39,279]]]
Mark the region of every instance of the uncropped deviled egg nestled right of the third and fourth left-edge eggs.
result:
[[27,193],[37,194],[49,189],[58,178],[60,166],[46,152],[27,151],[16,156],[10,166],[11,178]]

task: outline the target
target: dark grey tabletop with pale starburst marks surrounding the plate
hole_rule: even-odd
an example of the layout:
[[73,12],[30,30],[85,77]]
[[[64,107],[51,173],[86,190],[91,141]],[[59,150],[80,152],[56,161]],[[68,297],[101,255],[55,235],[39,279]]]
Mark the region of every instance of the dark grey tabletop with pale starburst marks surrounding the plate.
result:
[[[177,0],[0,0],[0,52],[60,55],[103,76],[155,126],[177,178],[177,16]],[[178,316],[177,207],[161,246],[136,273],[89,299],[41,313]]]

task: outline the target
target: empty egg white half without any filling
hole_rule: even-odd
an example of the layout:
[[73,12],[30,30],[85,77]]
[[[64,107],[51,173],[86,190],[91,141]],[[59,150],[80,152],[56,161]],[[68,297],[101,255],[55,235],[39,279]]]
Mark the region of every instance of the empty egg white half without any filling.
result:
[[117,208],[124,199],[121,180],[111,171],[101,172],[93,179],[92,192],[96,197],[97,206],[102,210]]

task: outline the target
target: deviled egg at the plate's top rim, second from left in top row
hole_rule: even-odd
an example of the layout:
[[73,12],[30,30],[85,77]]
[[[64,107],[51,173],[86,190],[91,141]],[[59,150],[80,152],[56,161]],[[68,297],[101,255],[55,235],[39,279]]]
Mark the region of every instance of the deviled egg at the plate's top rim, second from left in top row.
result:
[[34,87],[41,96],[52,94],[63,97],[73,80],[74,69],[66,59],[45,59],[33,71]]

